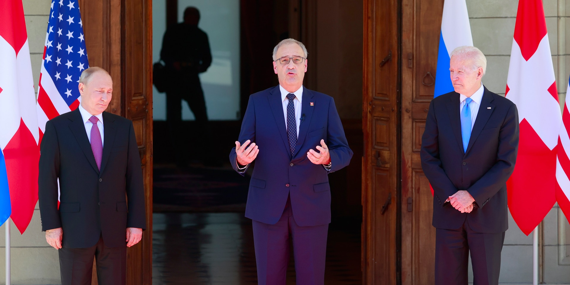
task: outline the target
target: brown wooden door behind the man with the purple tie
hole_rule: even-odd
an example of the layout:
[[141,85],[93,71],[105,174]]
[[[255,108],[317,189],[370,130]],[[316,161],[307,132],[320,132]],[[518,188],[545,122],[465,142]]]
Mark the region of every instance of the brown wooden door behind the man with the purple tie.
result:
[[[133,121],[143,168],[146,230],[127,250],[127,284],[152,284],[152,2],[80,0],[89,66],[111,74],[107,112]],[[95,268],[94,268],[95,269]],[[97,284],[95,270],[93,282]]]

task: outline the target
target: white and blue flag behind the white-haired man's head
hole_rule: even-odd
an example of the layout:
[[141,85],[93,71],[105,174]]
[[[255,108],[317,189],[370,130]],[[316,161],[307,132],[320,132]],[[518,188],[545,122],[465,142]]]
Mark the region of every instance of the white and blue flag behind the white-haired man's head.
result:
[[465,0],[445,0],[439,34],[434,98],[453,91],[449,76],[449,60],[451,52],[461,46],[473,46],[467,5]]

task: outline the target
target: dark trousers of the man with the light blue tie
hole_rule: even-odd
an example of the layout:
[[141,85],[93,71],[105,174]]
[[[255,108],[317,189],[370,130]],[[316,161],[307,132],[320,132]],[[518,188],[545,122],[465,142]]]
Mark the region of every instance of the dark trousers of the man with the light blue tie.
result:
[[435,229],[435,285],[467,285],[471,253],[473,285],[499,284],[502,233],[477,233],[467,219],[459,229]]

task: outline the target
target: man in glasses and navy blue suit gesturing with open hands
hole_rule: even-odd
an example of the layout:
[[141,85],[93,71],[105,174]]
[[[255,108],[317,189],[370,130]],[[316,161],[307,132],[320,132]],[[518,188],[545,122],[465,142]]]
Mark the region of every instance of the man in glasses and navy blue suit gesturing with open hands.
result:
[[282,40],[273,60],[279,86],[249,97],[230,161],[243,175],[255,160],[246,217],[253,219],[258,283],[286,283],[292,240],[297,283],[324,284],[327,175],[347,166],[352,150],[332,97],[303,87],[303,43]]

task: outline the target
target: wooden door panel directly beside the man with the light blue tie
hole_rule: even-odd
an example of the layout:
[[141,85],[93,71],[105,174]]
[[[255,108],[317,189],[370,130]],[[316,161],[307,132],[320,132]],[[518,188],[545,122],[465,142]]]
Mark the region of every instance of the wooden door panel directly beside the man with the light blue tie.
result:
[[433,196],[420,147],[433,99],[442,0],[402,0],[402,285],[434,284]]

